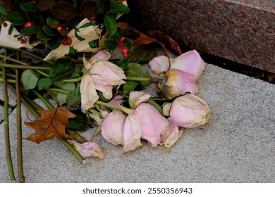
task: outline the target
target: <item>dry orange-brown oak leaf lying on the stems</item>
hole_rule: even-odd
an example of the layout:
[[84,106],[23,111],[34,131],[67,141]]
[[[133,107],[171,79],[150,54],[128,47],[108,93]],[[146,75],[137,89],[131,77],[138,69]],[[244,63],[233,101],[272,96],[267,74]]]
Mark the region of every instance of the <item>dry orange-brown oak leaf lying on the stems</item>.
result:
[[36,130],[35,134],[31,134],[27,138],[39,144],[41,141],[53,139],[54,136],[62,139],[73,139],[74,134],[66,135],[65,128],[70,127],[68,118],[76,117],[75,114],[65,108],[56,108],[55,110],[37,110],[41,114],[32,122],[25,122],[27,127]]

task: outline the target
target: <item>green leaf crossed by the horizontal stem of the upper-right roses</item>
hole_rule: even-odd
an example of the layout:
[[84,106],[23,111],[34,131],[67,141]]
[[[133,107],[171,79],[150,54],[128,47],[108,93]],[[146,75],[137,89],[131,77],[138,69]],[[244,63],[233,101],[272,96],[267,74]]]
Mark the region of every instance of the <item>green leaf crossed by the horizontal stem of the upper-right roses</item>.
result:
[[[128,63],[129,69],[125,72],[126,77],[144,77],[152,78],[149,71],[138,63]],[[149,85],[151,82],[140,82],[142,87]]]

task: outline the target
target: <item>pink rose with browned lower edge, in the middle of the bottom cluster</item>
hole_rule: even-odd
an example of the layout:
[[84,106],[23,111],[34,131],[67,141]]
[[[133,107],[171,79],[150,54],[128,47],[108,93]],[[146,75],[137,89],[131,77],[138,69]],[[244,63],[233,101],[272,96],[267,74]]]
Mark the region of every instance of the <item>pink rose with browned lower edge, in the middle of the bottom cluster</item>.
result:
[[170,122],[148,103],[141,103],[135,109],[135,115],[140,119],[141,138],[153,147],[162,145],[169,134]]

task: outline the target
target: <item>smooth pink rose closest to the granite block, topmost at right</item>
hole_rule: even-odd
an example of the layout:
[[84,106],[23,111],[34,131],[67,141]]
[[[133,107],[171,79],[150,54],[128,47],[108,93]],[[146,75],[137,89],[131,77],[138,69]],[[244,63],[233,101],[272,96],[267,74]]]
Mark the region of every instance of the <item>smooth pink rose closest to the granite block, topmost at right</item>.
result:
[[194,75],[194,80],[197,81],[202,70],[204,69],[204,61],[200,57],[200,54],[196,50],[188,51],[176,57],[171,63],[170,69],[183,70],[191,75]]

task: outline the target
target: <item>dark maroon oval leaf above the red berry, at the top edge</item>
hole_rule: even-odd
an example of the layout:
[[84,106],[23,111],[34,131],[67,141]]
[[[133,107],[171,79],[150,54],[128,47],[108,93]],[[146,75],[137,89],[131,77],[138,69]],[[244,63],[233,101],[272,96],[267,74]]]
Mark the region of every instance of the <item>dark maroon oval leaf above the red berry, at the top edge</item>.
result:
[[71,20],[78,15],[71,4],[63,1],[51,6],[50,11],[59,20]]

